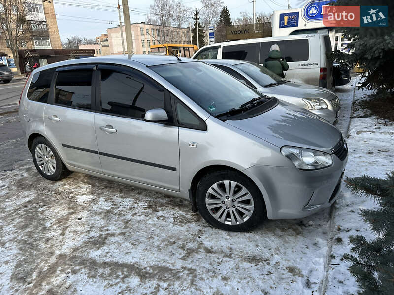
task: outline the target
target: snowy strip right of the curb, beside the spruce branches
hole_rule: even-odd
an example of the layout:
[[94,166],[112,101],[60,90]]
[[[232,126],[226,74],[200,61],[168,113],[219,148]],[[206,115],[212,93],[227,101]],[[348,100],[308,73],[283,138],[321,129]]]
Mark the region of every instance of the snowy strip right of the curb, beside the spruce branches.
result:
[[[355,92],[355,101],[363,99],[369,91]],[[359,118],[358,118],[359,117]],[[349,159],[345,176],[357,177],[366,174],[371,177],[385,177],[394,170],[394,123],[364,117],[355,111],[351,120],[348,138]],[[358,286],[347,268],[349,263],[342,260],[344,253],[350,253],[349,236],[361,234],[367,239],[373,235],[361,220],[361,208],[371,208],[375,204],[369,198],[355,196],[342,186],[341,195],[333,208],[331,240],[332,251],[328,260],[328,277],[325,295],[357,294]]]

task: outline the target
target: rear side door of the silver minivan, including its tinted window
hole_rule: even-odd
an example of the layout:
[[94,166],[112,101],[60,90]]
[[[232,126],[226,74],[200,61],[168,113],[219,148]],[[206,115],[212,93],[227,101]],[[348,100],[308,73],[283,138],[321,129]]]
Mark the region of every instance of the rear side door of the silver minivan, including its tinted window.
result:
[[68,165],[101,173],[94,128],[94,66],[57,68],[44,122],[46,135]]

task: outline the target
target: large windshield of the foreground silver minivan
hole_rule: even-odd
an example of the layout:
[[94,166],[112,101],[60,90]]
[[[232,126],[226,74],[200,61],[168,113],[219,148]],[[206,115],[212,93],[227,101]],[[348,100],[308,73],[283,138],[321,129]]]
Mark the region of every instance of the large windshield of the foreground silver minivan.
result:
[[203,62],[156,65],[151,69],[214,116],[262,96],[236,78]]

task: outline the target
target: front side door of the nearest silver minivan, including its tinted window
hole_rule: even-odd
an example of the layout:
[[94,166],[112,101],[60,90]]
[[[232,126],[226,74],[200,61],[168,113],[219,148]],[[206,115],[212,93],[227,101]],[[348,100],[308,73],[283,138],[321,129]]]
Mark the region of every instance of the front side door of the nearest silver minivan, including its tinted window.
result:
[[[130,67],[99,65],[95,130],[102,171],[173,191],[179,190],[178,127],[168,92]],[[163,108],[168,122],[144,121]]]

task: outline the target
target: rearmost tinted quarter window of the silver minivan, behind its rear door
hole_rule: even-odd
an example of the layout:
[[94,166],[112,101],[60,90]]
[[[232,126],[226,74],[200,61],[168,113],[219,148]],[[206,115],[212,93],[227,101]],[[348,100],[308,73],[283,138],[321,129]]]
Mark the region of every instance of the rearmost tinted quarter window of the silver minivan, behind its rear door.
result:
[[46,103],[48,101],[51,81],[55,69],[40,71],[33,74],[32,81],[28,89],[28,99]]

